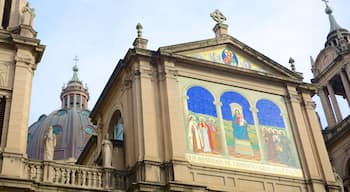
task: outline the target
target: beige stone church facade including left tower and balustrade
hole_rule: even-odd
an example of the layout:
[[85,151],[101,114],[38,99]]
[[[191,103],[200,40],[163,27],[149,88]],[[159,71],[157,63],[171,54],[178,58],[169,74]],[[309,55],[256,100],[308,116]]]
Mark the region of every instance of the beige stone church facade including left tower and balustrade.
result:
[[[218,10],[214,38],[158,50],[138,24],[90,113],[96,136],[76,164],[28,158],[31,82],[44,46],[26,1],[0,2],[0,190],[341,191],[311,99],[318,87],[230,36]],[[63,111],[86,107],[84,90],[70,105],[76,80],[62,93]],[[47,156],[53,146],[42,142]]]

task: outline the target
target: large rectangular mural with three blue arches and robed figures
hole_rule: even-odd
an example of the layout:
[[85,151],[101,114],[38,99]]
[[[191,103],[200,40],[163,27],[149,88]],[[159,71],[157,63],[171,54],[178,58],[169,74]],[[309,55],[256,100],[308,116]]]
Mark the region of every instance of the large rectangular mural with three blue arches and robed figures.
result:
[[178,79],[190,162],[302,177],[282,96]]

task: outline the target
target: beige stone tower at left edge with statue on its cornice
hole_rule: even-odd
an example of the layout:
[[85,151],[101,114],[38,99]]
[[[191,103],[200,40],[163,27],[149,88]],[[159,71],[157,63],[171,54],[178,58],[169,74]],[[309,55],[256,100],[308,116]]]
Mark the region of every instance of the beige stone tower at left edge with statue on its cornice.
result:
[[26,0],[0,0],[0,175],[22,177],[32,78],[45,46]]

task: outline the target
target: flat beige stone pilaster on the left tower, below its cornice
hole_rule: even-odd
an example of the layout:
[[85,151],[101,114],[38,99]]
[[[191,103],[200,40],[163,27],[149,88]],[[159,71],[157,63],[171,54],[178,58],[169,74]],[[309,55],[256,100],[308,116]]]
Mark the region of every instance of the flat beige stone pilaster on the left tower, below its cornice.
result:
[[26,157],[30,96],[35,68],[34,58],[30,55],[29,51],[18,47],[15,57],[11,109],[1,170],[1,174],[13,177],[23,177],[23,158]]

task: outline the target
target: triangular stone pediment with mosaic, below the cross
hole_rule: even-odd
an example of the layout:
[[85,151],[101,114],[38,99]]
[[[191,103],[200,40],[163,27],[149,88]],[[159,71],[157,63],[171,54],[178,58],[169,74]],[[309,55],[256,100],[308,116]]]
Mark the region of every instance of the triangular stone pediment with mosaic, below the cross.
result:
[[181,56],[231,65],[256,72],[263,72],[293,79],[300,74],[278,64],[233,37],[208,39],[160,48],[161,51]]

